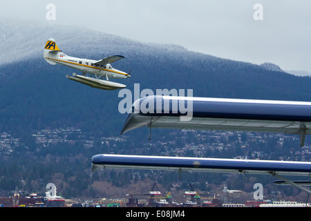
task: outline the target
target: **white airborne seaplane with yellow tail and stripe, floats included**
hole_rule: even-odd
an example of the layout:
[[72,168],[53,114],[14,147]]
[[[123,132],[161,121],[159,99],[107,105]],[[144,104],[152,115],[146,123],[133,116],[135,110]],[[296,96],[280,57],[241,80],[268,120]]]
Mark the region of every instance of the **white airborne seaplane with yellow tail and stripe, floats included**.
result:
[[[111,66],[111,63],[114,61],[124,59],[124,56],[112,55],[100,60],[71,57],[65,55],[62,50],[59,50],[55,43],[55,39],[53,38],[48,39],[46,42],[46,46],[44,47],[44,59],[46,59],[48,64],[62,64],[69,68],[81,71],[82,75],[73,73],[73,76],[66,75],[66,77],[70,80],[91,86],[92,88],[99,88],[102,90],[117,90],[125,88],[126,85],[111,82],[109,81],[109,78],[126,79],[131,77],[130,73],[125,73]],[[87,74],[90,74],[90,76],[88,77]]]

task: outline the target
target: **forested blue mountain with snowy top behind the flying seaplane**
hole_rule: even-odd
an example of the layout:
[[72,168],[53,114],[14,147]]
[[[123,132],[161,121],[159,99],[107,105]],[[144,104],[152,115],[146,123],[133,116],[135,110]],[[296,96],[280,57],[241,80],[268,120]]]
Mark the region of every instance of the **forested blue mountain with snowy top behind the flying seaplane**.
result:
[[113,66],[131,69],[131,79],[120,79],[131,91],[140,84],[140,90],[149,88],[154,92],[193,89],[196,97],[310,101],[311,79],[289,75],[274,65],[267,68],[80,27],[0,21],[0,131],[83,124],[88,130],[108,132],[109,128],[111,133],[120,133],[126,116],[117,111],[121,100],[118,92],[66,79],[73,69],[50,66],[43,58],[50,37],[71,56],[102,59],[124,55],[126,59]]

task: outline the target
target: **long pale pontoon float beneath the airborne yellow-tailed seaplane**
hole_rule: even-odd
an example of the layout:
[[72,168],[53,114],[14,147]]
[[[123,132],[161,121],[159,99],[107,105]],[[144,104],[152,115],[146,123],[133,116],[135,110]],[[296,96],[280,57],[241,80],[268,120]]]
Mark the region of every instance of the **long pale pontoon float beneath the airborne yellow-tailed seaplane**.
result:
[[66,77],[70,80],[91,86],[92,88],[98,88],[102,90],[117,90],[126,87],[124,84],[77,75],[76,73],[73,73],[73,77],[70,77],[69,75],[66,75]]

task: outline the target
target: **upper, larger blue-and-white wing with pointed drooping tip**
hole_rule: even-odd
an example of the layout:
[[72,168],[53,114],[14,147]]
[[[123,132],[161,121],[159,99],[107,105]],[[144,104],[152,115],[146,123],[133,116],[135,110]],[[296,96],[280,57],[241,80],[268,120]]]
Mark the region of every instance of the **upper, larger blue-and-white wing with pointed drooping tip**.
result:
[[311,102],[149,96],[136,100],[122,134],[134,128],[311,134]]

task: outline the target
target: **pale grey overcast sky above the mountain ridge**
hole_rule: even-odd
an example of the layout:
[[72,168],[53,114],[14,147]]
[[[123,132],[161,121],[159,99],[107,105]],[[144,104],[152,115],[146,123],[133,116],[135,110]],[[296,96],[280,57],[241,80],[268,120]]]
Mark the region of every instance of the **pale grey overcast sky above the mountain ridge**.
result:
[[[311,1],[27,0],[1,1],[0,19],[81,25],[143,42],[209,55],[272,62],[311,72]],[[46,19],[49,3],[55,20]],[[263,7],[255,8],[256,3]],[[262,12],[262,13],[261,13]],[[261,13],[261,14],[258,14]],[[263,20],[254,19],[262,18]]]

